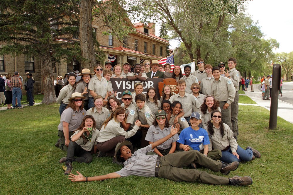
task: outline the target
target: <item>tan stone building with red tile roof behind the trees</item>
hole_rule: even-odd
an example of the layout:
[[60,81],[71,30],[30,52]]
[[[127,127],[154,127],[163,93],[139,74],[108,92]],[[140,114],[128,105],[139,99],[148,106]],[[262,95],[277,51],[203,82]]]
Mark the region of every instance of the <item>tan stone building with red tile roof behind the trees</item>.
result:
[[[115,36],[103,35],[103,32],[111,32],[105,25],[98,25],[95,18],[92,21],[92,27],[96,32],[96,38],[100,43],[100,49],[112,61],[113,66],[125,62],[134,65],[146,59],[149,61],[160,60],[166,57],[166,47],[169,42],[155,35],[155,23],[136,23],[132,24],[128,18],[125,19],[126,25],[130,25],[136,30],[131,33],[123,42],[120,42]],[[58,27],[56,27],[58,28]],[[72,41],[79,41],[78,35],[72,35]],[[62,41],[62,39],[60,39]],[[35,94],[42,93],[41,61],[37,57],[25,55],[4,55],[0,56],[0,72],[13,74],[18,71],[23,79],[26,78],[26,72],[33,74],[35,79]],[[103,64],[103,62],[101,62]],[[81,72],[79,61],[76,59],[62,59],[61,62],[53,64],[54,79],[57,76],[64,76],[65,73],[78,70]]]

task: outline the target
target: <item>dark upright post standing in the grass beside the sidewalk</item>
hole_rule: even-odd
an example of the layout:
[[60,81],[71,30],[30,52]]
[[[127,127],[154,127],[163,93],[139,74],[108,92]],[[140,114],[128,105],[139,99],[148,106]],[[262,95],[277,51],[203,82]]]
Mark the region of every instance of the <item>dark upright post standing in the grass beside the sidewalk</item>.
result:
[[278,99],[279,99],[278,97],[279,97],[280,87],[281,87],[281,66],[280,64],[273,64],[269,129],[275,129],[277,127]]

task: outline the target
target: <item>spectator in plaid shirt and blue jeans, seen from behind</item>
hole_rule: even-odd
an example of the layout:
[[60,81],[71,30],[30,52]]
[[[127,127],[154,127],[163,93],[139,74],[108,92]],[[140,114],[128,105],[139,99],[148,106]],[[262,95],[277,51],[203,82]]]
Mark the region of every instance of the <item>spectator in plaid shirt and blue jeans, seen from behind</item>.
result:
[[12,106],[13,109],[16,108],[16,98],[17,98],[17,107],[21,109],[21,90],[22,90],[22,81],[17,71],[14,72],[14,76],[11,78],[12,86]]

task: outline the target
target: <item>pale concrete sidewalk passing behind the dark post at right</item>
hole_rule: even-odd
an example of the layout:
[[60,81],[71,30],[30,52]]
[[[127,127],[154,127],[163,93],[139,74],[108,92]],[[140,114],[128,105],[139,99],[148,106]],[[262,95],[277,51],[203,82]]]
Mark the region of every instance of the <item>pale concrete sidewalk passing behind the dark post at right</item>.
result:
[[[256,104],[239,104],[239,105],[254,105],[261,106],[270,110],[271,101],[270,100],[262,100],[261,91],[258,89],[260,84],[256,84],[253,91],[245,91],[245,94],[251,98]],[[278,100],[278,116],[285,119],[286,121],[293,123],[293,105],[282,100]]]

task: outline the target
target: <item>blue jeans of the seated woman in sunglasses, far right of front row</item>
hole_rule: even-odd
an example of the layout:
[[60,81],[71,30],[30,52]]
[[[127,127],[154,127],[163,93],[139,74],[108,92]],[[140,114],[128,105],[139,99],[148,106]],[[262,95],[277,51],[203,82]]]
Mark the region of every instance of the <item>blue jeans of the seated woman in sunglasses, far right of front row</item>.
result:
[[237,147],[236,153],[239,155],[239,159],[234,154],[232,154],[231,148],[226,151],[222,151],[222,157],[220,160],[226,163],[232,163],[234,161],[250,161],[253,155],[252,150],[244,150],[239,145]]

